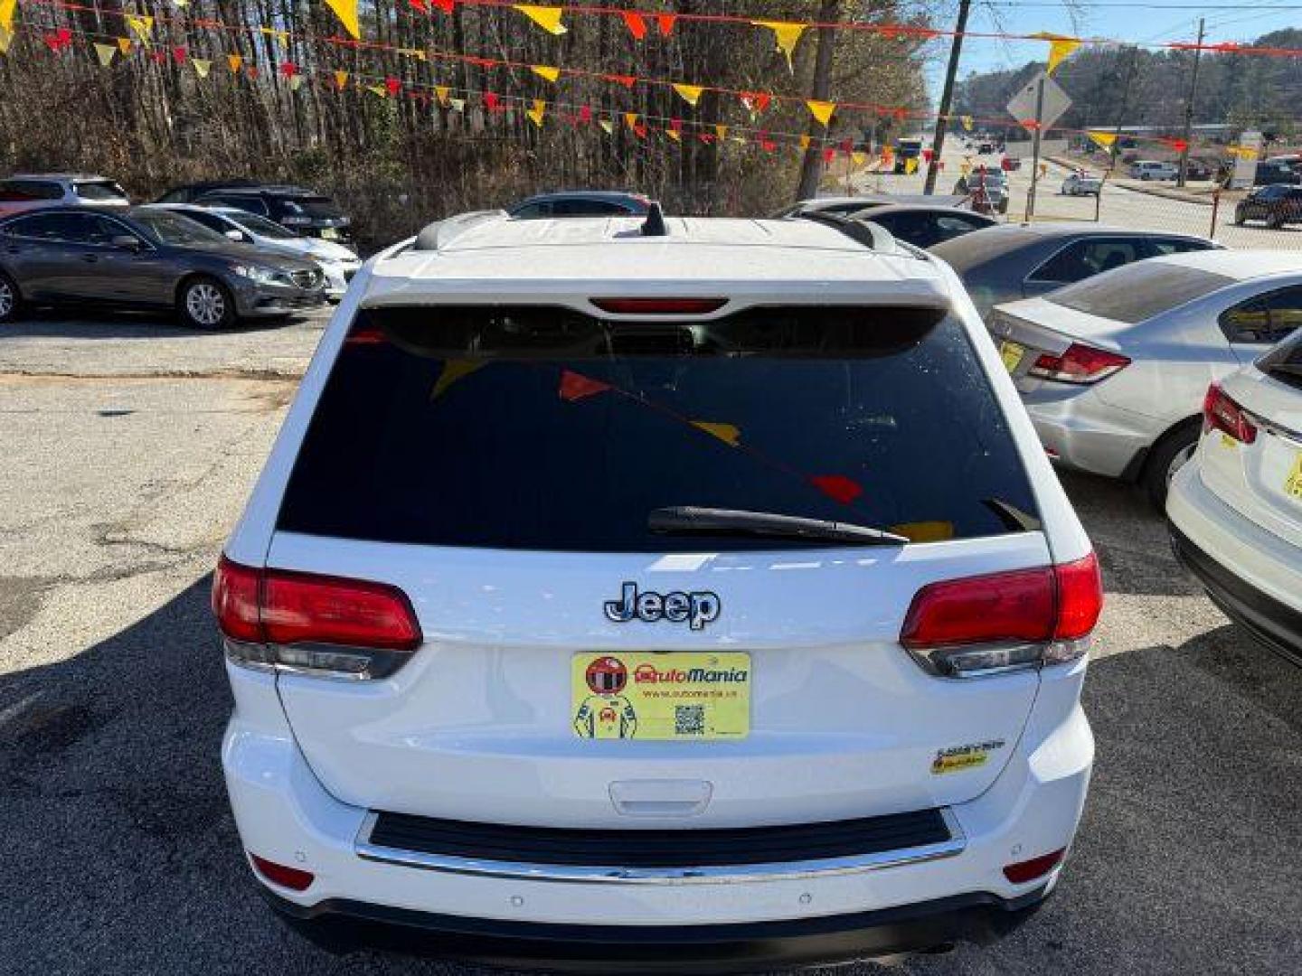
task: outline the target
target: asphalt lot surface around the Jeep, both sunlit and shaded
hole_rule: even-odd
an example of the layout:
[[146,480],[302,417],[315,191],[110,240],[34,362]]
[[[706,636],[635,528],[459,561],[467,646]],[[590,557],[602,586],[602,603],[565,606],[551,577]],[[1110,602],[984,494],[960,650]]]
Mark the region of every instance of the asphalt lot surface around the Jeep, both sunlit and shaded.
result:
[[[478,972],[281,929],[227,806],[208,574],[322,325],[0,333],[0,972]],[[1187,582],[1137,492],[1065,483],[1108,605],[1064,884],[1004,942],[891,971],[1294,973],[1302,670]]]

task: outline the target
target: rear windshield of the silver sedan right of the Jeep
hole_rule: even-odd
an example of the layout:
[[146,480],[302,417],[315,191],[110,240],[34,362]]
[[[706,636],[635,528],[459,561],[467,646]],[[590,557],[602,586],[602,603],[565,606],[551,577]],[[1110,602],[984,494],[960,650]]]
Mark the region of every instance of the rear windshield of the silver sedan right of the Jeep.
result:
[[1047,295],[1053,305],[1115,321],[1137,323],[1233,285],[1210,271],[1164,262],[1135,262]]

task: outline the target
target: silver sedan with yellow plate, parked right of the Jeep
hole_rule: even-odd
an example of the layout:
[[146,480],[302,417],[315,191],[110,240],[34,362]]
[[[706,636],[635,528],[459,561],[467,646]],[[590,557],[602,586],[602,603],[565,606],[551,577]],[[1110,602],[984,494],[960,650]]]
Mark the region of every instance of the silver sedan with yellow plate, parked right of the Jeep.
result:
[[1152,258],[990,318],[1044,449],[1139,481],[1159,508],[1198,441],[1207,386],[1302,324],[1302,254]]

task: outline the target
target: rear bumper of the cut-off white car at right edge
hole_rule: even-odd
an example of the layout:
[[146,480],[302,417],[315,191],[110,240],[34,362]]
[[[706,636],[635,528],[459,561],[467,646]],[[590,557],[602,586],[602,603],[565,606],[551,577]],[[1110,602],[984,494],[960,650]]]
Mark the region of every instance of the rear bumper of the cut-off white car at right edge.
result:
[[1176,475],[1167,514],[1176,557],[1212,603],[1272,651],[1302,660],[1302,553],[1216,498],[1197,465]]

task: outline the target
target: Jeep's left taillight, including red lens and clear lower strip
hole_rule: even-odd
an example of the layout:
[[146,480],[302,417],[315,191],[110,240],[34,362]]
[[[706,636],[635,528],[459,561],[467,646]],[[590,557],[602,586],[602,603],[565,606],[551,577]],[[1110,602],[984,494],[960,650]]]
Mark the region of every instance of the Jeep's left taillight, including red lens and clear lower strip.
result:
[[236,664],[346,678],[392,674],[421,645],[406,593],[387,583],[251,569],[221,557],[212,612]]

